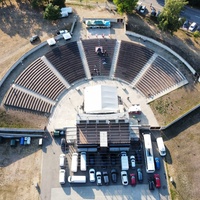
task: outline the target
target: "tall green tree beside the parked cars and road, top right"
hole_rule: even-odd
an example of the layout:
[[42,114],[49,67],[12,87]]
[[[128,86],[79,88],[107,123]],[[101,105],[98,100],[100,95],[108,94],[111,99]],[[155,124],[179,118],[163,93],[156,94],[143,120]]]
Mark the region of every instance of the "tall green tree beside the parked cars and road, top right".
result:
[[159,28],[170,31],[171,34],[177,31],[181,26],[179,21],[180,12],[187,3],[186,0],[166,0],[163,11],[158,17]]

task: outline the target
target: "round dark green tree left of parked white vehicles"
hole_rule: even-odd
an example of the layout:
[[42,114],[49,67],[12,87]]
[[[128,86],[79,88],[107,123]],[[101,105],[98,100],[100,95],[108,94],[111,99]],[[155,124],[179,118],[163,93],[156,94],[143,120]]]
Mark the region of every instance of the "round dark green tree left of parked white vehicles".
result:
[[60,10],[59,6],[56,6],[56,5],[54,6],[52,3],[50,3],[46,7],[43,16],[45,19],[56,20],[59,17],[61,17],[60,12],[61,12],[61,10]]

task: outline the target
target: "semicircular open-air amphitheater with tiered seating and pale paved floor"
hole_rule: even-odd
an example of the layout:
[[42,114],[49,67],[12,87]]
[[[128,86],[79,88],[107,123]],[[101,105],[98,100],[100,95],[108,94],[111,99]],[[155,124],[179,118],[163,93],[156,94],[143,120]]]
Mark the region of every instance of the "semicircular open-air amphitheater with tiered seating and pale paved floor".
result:
[[[71,41],[60,40],[53,47],[44,42],[19,59],[1,81],[1,89],[6,86],[1,94],[5,108],[45,115],[49,132],[64,128],[67,138],[75,140],[79,122],[96,118],[107,124],[106,129],[111,120],[160,129],[149,103],[187,84],[188,70],[180,68],[162,45],[142,36],[128,36],[123,28],[103,37],[99,31],[97,36],[74,34]],[[100,54],[97,47],[102,48]],[[95,85],[117,88],[122,109],[113,118],[84,114],[84,90]],[[141,107],[139,120],[125,115],[132,105]]]

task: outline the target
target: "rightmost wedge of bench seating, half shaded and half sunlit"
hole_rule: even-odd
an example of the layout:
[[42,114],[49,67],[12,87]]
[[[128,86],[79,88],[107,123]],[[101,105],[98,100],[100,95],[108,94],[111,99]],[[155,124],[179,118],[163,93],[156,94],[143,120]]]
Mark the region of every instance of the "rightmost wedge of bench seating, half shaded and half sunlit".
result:
[[177,89],[187,83],[184,75],[176,67],[161,56],[157,56],[135,83],[135,88],[145,97],[152,98],[166,90],[166,93],[169,92],[172,87]]

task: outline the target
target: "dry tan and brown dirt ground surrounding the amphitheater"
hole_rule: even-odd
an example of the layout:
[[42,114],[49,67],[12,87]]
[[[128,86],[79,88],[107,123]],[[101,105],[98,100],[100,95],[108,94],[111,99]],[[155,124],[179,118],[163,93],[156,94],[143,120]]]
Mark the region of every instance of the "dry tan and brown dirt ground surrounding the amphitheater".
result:
[[[29,38],[33,34],[38,34],[41,41],[45,41],[56,33],[57,30],[68,26],[66,19],[48,22],[42,19],[42,13],[33,11],[27,7],[27,2],[9,1],[7,6],[0,8],[3,14],[0,27],[0,78],[5,75],[10,66],[25,52],[34,46],[29,43]],[[90,9],[82,6],[72,6],[80,18],[84,17],[116,17],[115,12],[105,10],[105,7],[97,6]],[[121,16],[120,16],[121,18]],[[145,23],[141,17],[127,17],[129,25],[138,33],[149,35],[159,40],[166,40],[171,48],[176,49],[183,55],[187,55],[191,64],[195,67],[200,66],[200,41],[187,36],[183,31],[179,31],[174,36],[160,32],[150,21]],[[183,35],[183,41],[178,36]],[[176,46],[174,44],[177,44]],[[198,65],[197,65],[198,64]],[[170,113],[181,113],[188,110],[188,105],[199,102],[199,84],[193,85],[193,79],[190,76],[191,84],[171,93],[169,96],[155,102],[156,105],[168,105],[164,114],[159,113],[154,107],[157,118],[165,124],[170,118]],[[188,96],[190,98],[188,98]],[[180,98],[181,97],[181,98]],[[181,102],[182,100],[182,102]],[[167,103],[166,103],[167,102]],[[174,109],[176,108],[176,109]],[[162,106],[163,109],[163,106]],[[9,118],[16,118],[19,124],[25,119],[28,127],[43,128],[47,119],[42,116],[32,115],[31,113],[22,113],[9,111]],[[174,114],[173,114],[174,115]],[[172,115],[171,115],[172,116]],[[167,118],[168,117],[168,118]],[[198,113],[176,124],[167,131],[163,132],[165,143],[168,148],[166,157],[169,176],[175,180],[175,185],[170,185],[173,199],[198,199],[200,193],[197,185],[199,182],[199,145],[200,139],[198,129],[200,128]],[[10,122],[8,122],[10,123]],[[190,126],[192,124],[192,126]],[[187,139],[186,139],[187,138]],[[9,144],[0,145],[0,199],[39,199],[39,191],[36,190],[34,183],[40,184],[40,167],[42,152],[38,148],[37,140],[30,146],[17,146],[10,148]],[[183,164],[184,163],[184,164]],[[188,185],[189,184],[189,185]]]

